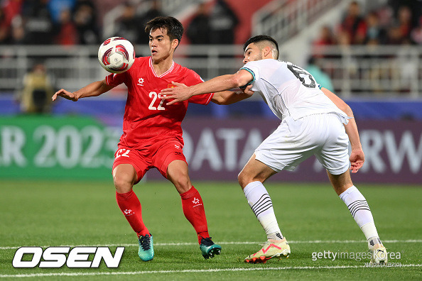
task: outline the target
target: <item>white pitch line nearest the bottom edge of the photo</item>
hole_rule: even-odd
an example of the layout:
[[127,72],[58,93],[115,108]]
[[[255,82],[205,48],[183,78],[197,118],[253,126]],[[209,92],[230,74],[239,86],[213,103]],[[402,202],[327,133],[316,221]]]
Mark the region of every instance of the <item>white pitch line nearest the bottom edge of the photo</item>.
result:
[[[401,265],[401,268],[420,268],[421,264]],[[49,276],[95,276],[95,275],[141,275],[153,273],[192,273],[192,272],[224,272],[224,271],[271,271],[271,270],[314,270],[314,269],[348,269],[368,268],[365,265],[335,265],[335,266],[288,266],[286,268],[214,268],[208,270],[147,270],[147,271],[125,271],[125,272],[58,272],[58,273],[32,273],[16,275],[0,275],[1,277],[49,277]]]

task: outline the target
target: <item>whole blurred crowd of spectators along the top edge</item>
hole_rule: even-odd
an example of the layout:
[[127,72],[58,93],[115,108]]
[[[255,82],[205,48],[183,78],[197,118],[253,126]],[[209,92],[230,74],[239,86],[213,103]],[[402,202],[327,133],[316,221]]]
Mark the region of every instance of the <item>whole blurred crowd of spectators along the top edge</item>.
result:
[[[148,10],[138,13],[139,4]],[[422,44],[422,1],[388,0],[386,5],[362,12],[352,1],[342,21],[324,26],[313,45]],[[102,42],[97,0],[0,0],[0,44],[97,44]],[[145,23],[166,16],[161,1],[121,1],[114,35],[134,43],[147,43]],[[231,44],[239,25],[236,11],[224,0],[204,2],[188,21],[186,35],[192,44]],[[207,31],[207,32],[204,32]],[[111,35],[111,34],[110,34]]]

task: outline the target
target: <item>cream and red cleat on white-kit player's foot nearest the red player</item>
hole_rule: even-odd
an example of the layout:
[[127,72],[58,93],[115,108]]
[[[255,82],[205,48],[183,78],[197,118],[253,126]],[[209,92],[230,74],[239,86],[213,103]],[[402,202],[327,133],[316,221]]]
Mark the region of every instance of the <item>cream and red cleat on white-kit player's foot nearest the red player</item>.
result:
[[286,238],[283,238],[283,240],[278,242],[266,241],[264,244],[260,245],[262,246],[261,250],[252,255],[248,255],[247,258],[244,259],[245,263],[266,263],[270,258],[288,258],[288,255],[290,255],[290,246],[288,246]]

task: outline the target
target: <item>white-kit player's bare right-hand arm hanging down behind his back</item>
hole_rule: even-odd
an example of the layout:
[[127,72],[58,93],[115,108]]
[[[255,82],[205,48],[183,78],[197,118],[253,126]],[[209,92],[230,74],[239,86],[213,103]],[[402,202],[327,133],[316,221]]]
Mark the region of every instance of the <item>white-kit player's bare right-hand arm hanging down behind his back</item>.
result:
[[365,156],[362,150],[362,144],[360,143],[359,132],[357,131],[357,124],[355,121],[355,116],[353,116],[353,111],[348,106],[345,101],[337,97],[330,90],[321,88],[325,96],[327,96],[339,109],[345,112],[347,116],[352,117],[349,119],[349,123],[345,125],[345,130],[347,136],[349,136],[350,145],[352,145],[352,153],[350,153],[350,170],[352,172],[357,172],[364,164]]

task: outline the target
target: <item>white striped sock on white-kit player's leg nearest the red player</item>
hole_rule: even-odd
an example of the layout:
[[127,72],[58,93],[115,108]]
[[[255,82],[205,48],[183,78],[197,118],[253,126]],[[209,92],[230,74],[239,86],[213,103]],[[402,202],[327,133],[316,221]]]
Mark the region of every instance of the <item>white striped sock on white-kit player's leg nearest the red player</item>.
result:
[[276,215],[274,214],[273,202],[269,197],[264,185],[261,182],[251,182],[243,189],[244,196],[248,200],[249,206],[261,224],[268,239],[281,240],[280,228],[277,224]]

